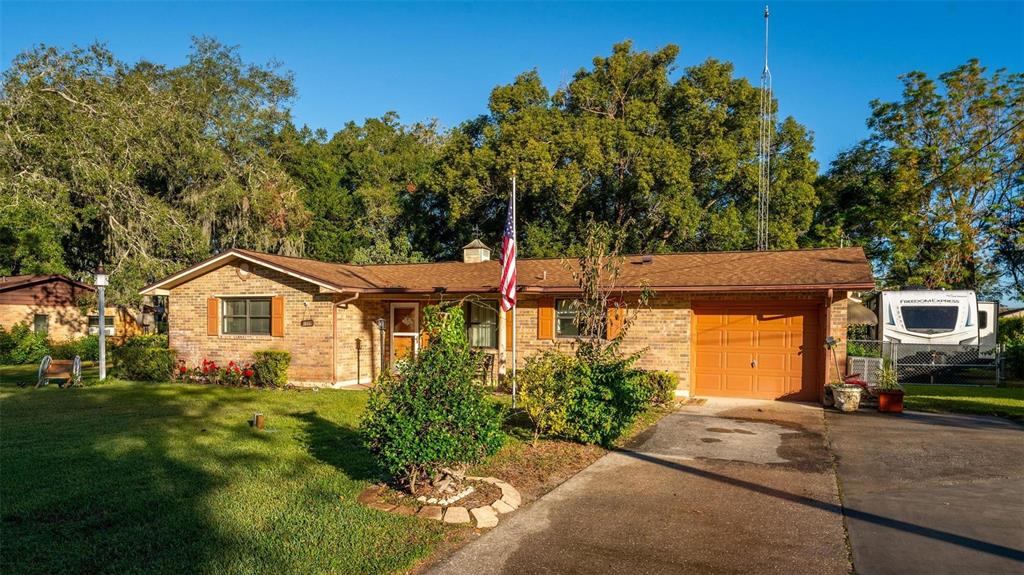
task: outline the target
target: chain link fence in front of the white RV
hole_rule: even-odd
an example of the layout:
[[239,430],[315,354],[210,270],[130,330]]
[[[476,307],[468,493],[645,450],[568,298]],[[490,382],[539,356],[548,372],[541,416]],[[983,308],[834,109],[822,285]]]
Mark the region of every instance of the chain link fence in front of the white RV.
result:
[[846,353],[847,372],[868,384],[886,360],[901,384],[997,386],[1002,380],[999,349],[991,346],[849,340]]

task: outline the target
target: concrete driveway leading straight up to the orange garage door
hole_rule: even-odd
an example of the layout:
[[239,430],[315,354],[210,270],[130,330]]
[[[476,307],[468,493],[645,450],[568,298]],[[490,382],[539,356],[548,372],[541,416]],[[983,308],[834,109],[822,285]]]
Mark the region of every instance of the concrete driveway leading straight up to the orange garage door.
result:
[[431,572],[850,570],[820,407],[684,407]]

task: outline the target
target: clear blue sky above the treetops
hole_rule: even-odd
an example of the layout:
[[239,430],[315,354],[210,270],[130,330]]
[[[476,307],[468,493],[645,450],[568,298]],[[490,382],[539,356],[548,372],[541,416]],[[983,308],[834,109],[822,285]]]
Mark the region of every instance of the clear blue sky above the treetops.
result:
[[[0,4],[2,65],[34,44],[106,42],[122,59],[181,63],[194,35],[295,73],[298,123],[334,131],[397,112],[442,126],[485,112],[496,85],[537,68],[551,87],[611,45],[676,43],[680,67],[729,60],[758,82],[762,3]],[[822,165],[866,130],[898,75],[970,57],[1024,72],[1024,3],[772,2],[771,69],[783,115],[815,133]],[[824,166],[822,166],[824,167]]]

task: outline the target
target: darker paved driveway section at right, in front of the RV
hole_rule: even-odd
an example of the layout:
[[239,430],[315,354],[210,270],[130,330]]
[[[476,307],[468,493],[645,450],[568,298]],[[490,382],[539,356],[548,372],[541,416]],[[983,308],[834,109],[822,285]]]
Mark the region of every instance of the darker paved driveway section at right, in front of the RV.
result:
[[860,575],[1024,573],[1024,427],[827,414]]

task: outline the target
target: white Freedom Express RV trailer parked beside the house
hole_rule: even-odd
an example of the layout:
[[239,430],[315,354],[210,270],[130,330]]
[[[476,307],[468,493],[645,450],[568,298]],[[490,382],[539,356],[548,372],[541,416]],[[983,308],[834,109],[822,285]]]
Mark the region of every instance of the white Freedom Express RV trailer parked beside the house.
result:
[[[879,340],[901,344],[996,346],[997,302],[974,292],[902,290],[878,298]],[[984,352],[983,352],[984,353]]]

